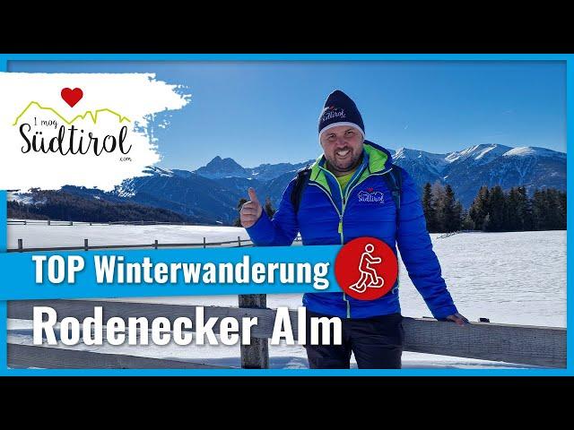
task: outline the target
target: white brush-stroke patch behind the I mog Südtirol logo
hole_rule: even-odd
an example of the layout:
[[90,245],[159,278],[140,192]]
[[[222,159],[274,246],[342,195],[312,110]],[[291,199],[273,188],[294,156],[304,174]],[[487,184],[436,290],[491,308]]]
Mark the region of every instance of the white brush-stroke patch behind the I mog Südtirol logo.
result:
[[[69,107],[60,96],[63,88],[81,88],[83,99]],[[150,130],[153,116],[180,109],[189,102],[190,95],[179,94],[178,88],[178,85],[157,81],[154,73],[0,73],[0,189],[58,189],[63,185],[78,185],[108,191],[126,178],[142,176],[143,168],[161,159]],[[14,120],[30,101],[53,107],[68,121],[86,110],[95,113],[101,108],[126,116],[131,122],[121,125],[127,125],[126,148],[131,144],[132,150],[126,157],[132,160],[121,161],[123,154],[119,150],[104,152],[100,157],[92,150],[87,154],[65,156],[22,153],[25,145],[19,129],[22,122],[33,125],[33,118],[37,116],[38,121],[39,118],[57,119],[58,128],[65,125],[52,112],[30,107],[14,126]],[[88,140],[88,130],[97,131],[103,138],[109,133],[117,135],[121,128],[117,116],[106,112],[100,113],[97,125],[93,125],[90,116],[77,119],[74,125],[86,129],[84,142]],[[57,135],[57,130],[49,133],[50,137]]]

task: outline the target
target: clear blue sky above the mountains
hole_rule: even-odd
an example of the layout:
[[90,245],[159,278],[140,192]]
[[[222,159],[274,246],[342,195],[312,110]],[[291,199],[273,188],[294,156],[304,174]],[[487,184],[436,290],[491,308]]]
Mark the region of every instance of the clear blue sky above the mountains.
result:
[[10,72],[156,73],[191,102],[156,128],[162,168],[193,170],[216,155],[244,167],[321,153],[317,118],[344,90],[366,137],[446,153],[481,143],[566,151],[566,67],[538,61],[13,61]]

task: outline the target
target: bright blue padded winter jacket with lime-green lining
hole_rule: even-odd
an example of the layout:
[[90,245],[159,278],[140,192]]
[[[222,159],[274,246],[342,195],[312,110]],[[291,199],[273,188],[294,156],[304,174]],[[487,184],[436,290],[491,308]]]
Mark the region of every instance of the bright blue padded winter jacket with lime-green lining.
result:
[[[399,167],[392,164],[388,150],[365,141],[362,164],[344,192],[335,176],[325,168],[325,162],[325,156],[321,156],[313,165],[298,213],[291,203],[293,179],[284,191],[273,219],[263,211],[257,222],[247,228],[253,243],[258,246],[291,245],[298,232],[303,245],[338,245],[356,237],[377,237],[395,254],[398,245],[414,286],[435,318],[455,314],[457,307],[441,276],[439,260],[432,251],[421,199],[411,176],[400,168],[403,185],[397,231],[396,205],[382,175]],[[360,200],[358,194],[367,190],[383,193],[384,198]],[[400,313],[398,279],[385,296],[376,300],[357,300],[343,292],[307,293],[303,296],[303,305],[318,314],[342,318]]]

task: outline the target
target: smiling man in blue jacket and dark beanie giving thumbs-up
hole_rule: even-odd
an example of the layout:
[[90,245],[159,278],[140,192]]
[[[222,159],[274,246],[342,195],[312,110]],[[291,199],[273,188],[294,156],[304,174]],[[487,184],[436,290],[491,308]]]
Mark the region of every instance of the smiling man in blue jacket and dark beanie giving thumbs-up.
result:
[[[343,91],[335,90],[326,99],[318,135],[323,155],[296,199],[298,208],[292,198],[296,178],[283,193],[273,219],[249,188],[250,201],[241,208],[240,220],[253,243],[291,245],[299,232],[303,245],[343,245],[361,236],[377,237],[395,254],[398,245],[414,286],[435,318],[468,323],[458,314],[441,276],[413,179],[392,163],[388,150],[365,140],[361,113]],[[402,177],[399,211],[383,177],[394,168]],[[365,193],[383,197],[365,199]],[[349,368],[352,353],[360,368],[401,367],[404,335],[398,280],[375,300],[357,300],[344,293],[307,293],[303,305],[308,318],[337,316],[343,323],[343,345],[305,347],[311,368]]]

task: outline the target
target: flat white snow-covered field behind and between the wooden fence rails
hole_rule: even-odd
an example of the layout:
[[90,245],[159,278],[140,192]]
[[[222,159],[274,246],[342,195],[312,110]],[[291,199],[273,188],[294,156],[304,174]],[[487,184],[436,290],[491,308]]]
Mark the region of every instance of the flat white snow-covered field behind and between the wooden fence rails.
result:
[[[8,247],[83,245],[128,245],[152,243],[196,243],[248,238],[243,228],[191,226],[41,226],[10,225]],[[459,312],[471,321],[490,318],[491,323],[515,323],[566,327],[566,232],[464,233],[438,239],[431,235],[433,246],[455,299]],[[431,316],[422,297],[413,287],[403,263],[400,263],[402,313],[406,316]],[[217,297],[146,297],[123,299],[193,305],[237,305],[237,296]],[[300,295],[269,295],[267,305],[300,305]],[[30,322],[11,320],[9,334],[13,343],[30,344],[30,336],[19,329]],[[239,346],[177,345],[147,347],[86,347],[78,349],[130,354],[145,357],[177,358],[220,366],[240,366]],[[405,352],[404,367],[518,367],[458,357],[432,356]],[[302,347],[270,347],[270,364],[274,368],[307,367]],[[524,367],[524,366],[520,366]]]

